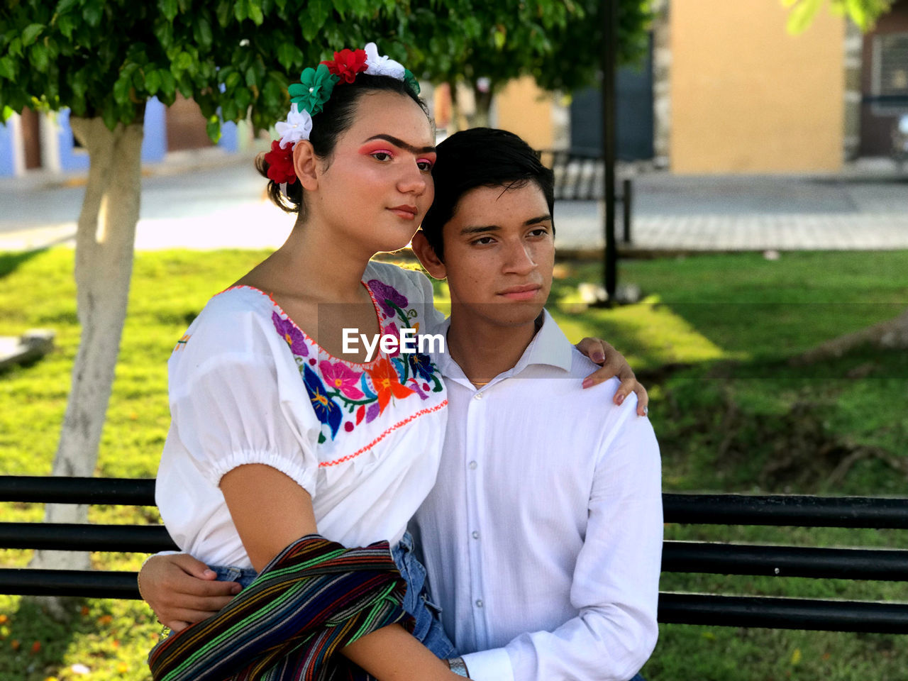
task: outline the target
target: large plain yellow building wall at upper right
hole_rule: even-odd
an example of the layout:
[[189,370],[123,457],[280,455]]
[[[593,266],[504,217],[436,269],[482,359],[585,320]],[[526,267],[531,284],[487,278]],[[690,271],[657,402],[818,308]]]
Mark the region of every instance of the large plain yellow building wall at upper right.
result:
[[676,173],[841,169],[844,19],[827,6],[801,35],[778,0],[671,0],[671,167]]

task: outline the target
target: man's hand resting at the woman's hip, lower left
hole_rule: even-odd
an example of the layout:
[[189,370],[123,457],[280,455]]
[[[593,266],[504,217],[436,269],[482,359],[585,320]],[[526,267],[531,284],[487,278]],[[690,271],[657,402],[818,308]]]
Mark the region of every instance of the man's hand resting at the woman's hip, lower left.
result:
[[236,594],[236,582],[219,582],[204,563],[180,553],[153,556],[139,572],[142,597],[165,627],[181,631],[216,614]]

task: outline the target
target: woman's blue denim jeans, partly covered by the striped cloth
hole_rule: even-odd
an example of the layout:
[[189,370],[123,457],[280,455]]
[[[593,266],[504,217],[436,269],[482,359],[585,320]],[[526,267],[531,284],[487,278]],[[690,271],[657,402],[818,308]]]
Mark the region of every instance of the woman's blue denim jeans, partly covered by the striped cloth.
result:
[[[407,582],[407,593],[403,598],[403,609],[416,619],[413,636],[429,648],[435,656],[446,659],[456,656],[454,646],[445,634],[439,620],[439,607],[429,600],[426,585],[426,568],[413,555],[413,538],[406,533],[400,543],[391,548],[391,558],[400,570],[400,575]],[[217,575],[218,581],[239,582],[245,588],[252,584],[258,573],[252,568],[233,568],[210,566]]]

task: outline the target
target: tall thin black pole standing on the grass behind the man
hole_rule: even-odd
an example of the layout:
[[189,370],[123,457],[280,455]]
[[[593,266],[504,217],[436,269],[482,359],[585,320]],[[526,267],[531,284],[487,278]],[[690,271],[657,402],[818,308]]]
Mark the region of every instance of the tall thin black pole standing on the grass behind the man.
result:
[[602,3],[602,160],[605,163],[606,252],[605,284],[608,301],[617,288],[615,243],[615,66],[617,45],[617,0]]

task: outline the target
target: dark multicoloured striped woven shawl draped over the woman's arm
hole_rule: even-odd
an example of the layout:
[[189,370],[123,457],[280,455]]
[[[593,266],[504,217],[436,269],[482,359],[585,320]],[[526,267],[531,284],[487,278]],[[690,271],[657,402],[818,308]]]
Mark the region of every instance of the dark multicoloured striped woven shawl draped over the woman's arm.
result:
[[154,646],[154,681],[368,679],[342,647],[403,621],[407,583],[387,541],[344,548],[297,539],[217,615]]

